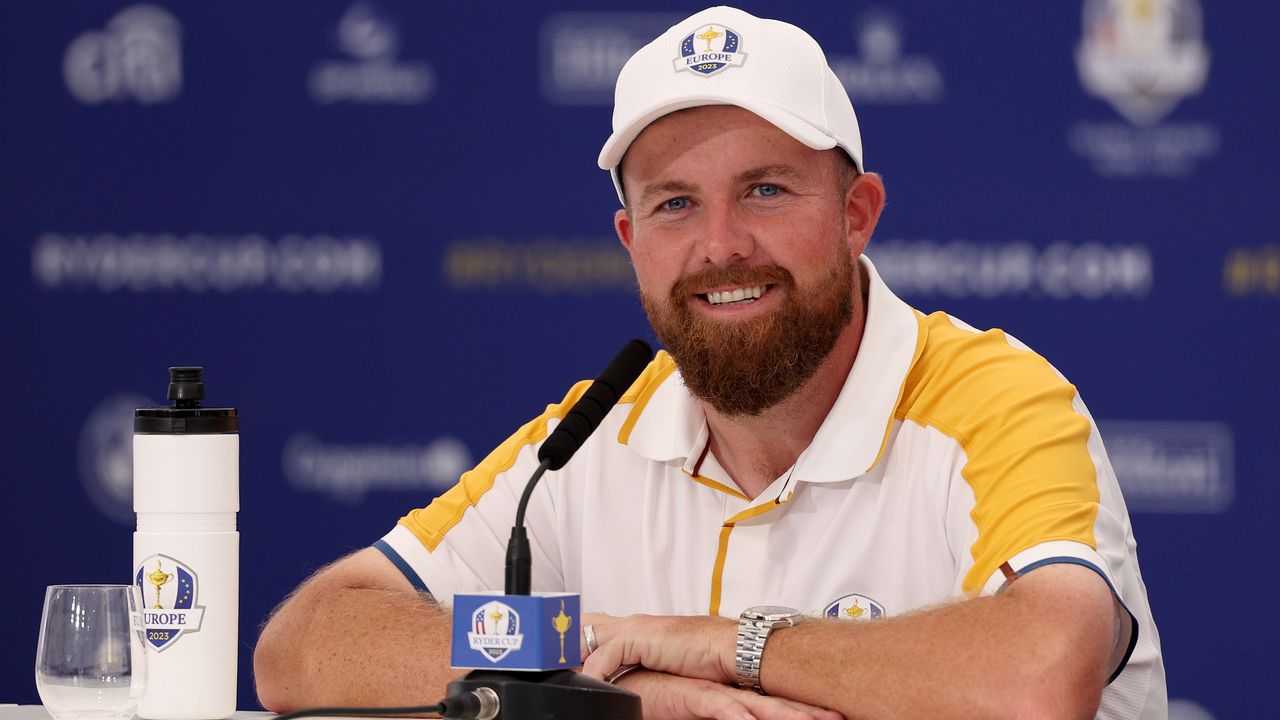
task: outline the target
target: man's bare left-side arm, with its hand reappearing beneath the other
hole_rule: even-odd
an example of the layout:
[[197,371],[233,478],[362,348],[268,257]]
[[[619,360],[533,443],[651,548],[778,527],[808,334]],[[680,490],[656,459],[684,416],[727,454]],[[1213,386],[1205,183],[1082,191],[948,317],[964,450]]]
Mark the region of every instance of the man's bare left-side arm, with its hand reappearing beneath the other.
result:
[[[451,618],[387,557],[355,552],[317,571],[275,610],[253,650],[264,707],[429,705],[460,675]],[[653,720],[838,720],[835,712],[721,683],[644,673],[627,687]]]

